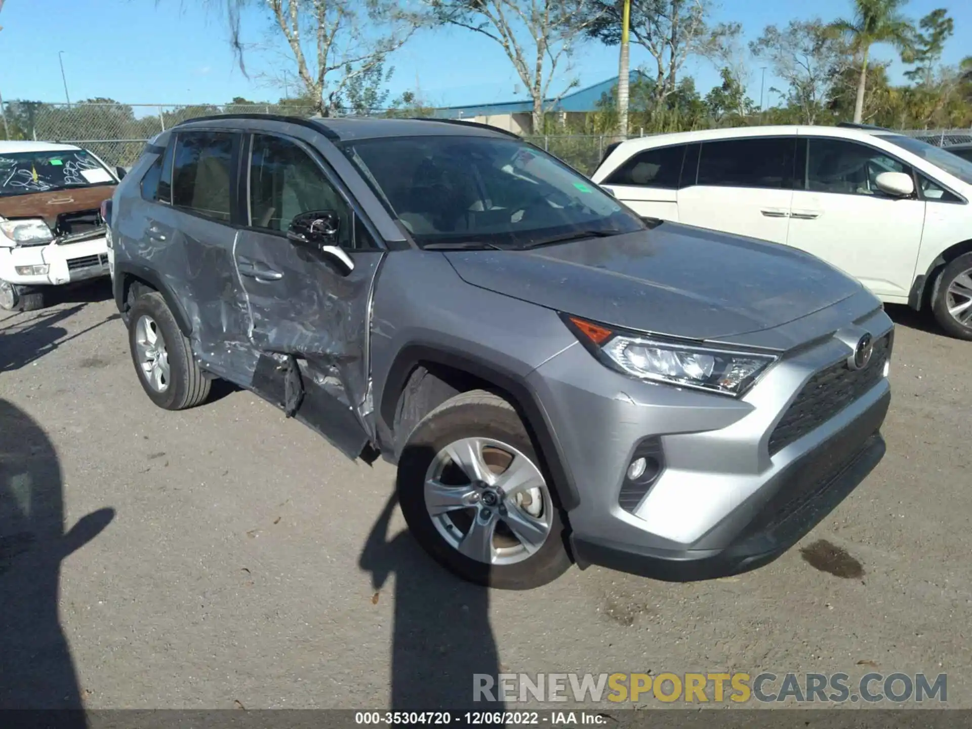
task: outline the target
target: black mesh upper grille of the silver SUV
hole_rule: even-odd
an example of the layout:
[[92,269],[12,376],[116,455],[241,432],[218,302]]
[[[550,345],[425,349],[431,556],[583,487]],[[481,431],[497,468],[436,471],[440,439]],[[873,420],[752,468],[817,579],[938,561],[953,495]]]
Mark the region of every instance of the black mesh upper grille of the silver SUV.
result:
[[823,425],[874,387],[884,376],[891,336],[888,332],[874,343],[871,361],[863,369],[851,369],[842,361],[811,377],[770,434],[770,455]]

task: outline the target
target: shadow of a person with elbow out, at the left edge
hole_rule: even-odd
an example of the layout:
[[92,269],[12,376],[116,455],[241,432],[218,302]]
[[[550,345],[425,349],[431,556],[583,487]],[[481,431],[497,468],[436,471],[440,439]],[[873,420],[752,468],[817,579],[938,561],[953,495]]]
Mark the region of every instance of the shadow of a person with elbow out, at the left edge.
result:
[[4,399],[0,434],[0,710],[66,710],[48,723],[84,727],[81,689],[58,617],[60,566],[108,526],[115,510],[92,511],[65,533],[51,439]]

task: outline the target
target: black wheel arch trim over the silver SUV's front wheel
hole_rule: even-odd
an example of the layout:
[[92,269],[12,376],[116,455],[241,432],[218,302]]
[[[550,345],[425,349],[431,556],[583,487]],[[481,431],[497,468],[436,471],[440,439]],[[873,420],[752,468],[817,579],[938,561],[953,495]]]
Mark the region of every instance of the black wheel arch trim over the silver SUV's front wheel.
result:
[[541,468],[553,480],[559,505],[580,503],[573,478],[565,468],[563,449],[534,390],[522,376],[502,365],[458,352],[411,344],[399,351],[381,391],[378,415],[392,434],[395,457],[411,429],[446,399],[469,390],[487,390],[513,405],[537,449]]

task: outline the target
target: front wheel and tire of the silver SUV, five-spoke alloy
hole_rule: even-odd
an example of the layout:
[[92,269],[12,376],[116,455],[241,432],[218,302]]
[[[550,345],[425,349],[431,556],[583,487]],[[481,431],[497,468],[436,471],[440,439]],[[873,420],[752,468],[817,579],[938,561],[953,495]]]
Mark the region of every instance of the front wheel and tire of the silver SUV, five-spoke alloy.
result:
[[440,565],[476,584],[527,590],[571,566],[564,526],[522,421],[482,390],[443,402],[399,459],[401,511]]

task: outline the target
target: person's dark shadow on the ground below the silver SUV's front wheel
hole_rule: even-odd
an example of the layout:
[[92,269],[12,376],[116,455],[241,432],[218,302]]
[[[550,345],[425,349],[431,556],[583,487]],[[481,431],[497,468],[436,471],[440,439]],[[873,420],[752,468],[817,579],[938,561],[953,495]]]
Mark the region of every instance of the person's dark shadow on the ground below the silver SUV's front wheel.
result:
[[[407,530],[389,538],[393,495],[378,516],[359,566],[381,590],[395,574],[392,711],[502,712],[503,702],[474,700],[475,675],[497,680],[500,660],[489,621],[489,590],[439,567]],[[480,684],[482,685],[482,684]],[[493,688],[496,694],[496,686]],[[463,719],[465,720],[465,715]],[[486,721],[485,726],[503,726]]]

